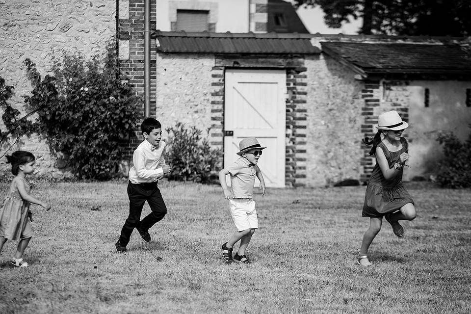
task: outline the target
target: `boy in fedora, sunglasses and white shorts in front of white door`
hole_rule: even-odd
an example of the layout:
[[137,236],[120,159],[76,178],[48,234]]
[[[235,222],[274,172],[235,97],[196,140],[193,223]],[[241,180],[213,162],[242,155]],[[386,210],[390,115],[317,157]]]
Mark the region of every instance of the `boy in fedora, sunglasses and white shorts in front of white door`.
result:
[[[225,262],[233,261],[250,264],[245,256],[245,250],[249,245],[255,229],[258,229],[257,211],[253,189],[255,177],[260,180],[262,194],[265,194],[265,181],[262,172],[257,165],[262,156],[262,147],[255,137],[244,138],[239,143],[240,156],[235,162],[219,171],[219,182],[224,191],[224,196],[229,200],[231,217],[237,229],[234,235],[222,245],[222,258]],[[232,191],[226,183],[226,176],[231,175]],[[240,240],[239,248],[232,257],[232,250],[237,241]]]

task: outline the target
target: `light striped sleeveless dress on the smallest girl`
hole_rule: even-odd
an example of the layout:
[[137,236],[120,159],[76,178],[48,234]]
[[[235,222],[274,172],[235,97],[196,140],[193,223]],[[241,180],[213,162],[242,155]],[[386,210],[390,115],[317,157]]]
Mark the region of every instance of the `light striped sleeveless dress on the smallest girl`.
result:
[[[24,178],[16,180],[23,180],[26,192],[29,193],[31,189],[29,182]],[[29,202],[23,201],[15,180],[13,180],[10,191],[0,209],[0,236],[10,240],[27,239],[33,236],[28,216]]]

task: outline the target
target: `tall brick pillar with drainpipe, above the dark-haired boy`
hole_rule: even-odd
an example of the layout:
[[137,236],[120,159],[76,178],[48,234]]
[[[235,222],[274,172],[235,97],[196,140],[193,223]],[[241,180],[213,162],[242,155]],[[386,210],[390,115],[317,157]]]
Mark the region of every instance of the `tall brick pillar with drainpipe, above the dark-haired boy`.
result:
[[[132,157],[134,148],[142,141],[140,124],[144,118],[144,0],[120,0],[118,40],[121,72],[129,77],[130,84],[140,97],[138,120],[134,126],[136,136],[131,138],[128,156]],[[151,37],[156,29],[156,0],[151,0]],[[151,39],[151,86],[150,116],[156,117],[156,54],[155,38]],[[126,53],[128,52],[128,53]],[[158,117],[157,117],[158,120]]]

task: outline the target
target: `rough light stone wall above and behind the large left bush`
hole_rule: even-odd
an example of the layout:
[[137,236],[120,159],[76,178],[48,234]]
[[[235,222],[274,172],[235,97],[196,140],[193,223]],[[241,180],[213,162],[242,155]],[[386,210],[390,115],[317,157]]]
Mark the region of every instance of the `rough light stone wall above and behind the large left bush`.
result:
[[[21,96],[31,91],[25,58],[44,76],[51,69],[52,55],[59,57],[62,49],[77,49],[86,56],[103,51],[116,31],[115,1],[0,0],[0,8],[0,76],[14,86],[11,101],[19,109]],[[63,175],[53,167],[48,146],[37,138],[23,138],[13,149],[31,151],[41,165],[40,174]]]

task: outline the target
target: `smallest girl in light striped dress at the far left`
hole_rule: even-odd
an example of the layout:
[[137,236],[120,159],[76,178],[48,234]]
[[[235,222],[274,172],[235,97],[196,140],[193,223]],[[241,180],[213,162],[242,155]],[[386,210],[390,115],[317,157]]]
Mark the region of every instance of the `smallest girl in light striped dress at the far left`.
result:
[[[29,220],[29,203],[37,204],[46,210],[51,207],[29,195],[31,183],[26,180],[26,175],[34,173],[34,155],[25,151],[16,151],[7,155],[7,162],[11,163],[11,172],[16,176],[10,184],[10,191],[5,197],[3,207],[0,209],[0,252],[6,240],[20,239],[18,249],[12,264],[17,267],[27,267],[23,261],[23,253],[29,240],[33,236]],[[28,219],[29,218],[29,219]]]

